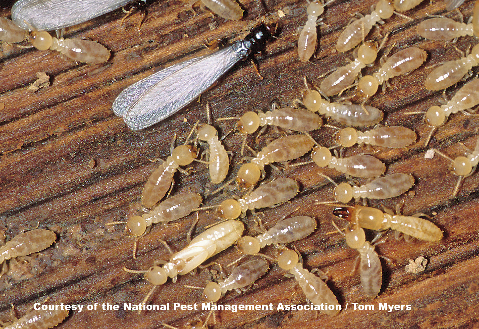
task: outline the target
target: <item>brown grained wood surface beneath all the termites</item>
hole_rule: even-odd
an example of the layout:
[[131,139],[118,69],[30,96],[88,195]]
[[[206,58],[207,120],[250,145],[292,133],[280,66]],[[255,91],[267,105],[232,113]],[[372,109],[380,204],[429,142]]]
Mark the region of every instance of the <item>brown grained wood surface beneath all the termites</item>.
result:
[[[12,1],[11,1],[12,2]],[[154,225],[139,239],[137,259],[132,259],[133,238],[125,236],[123,225],[105,226],[108,222],[125,220],[138,212],[139,198],[148,175],[158,166],[151,160],[166,159],[176,134],[183,143],[192,125],[206,122],[205,104],[209,103],[212,117],[239,116],[246,111],[268,110],[272,102],[292,104],[301,99],[305,90],[303,76],[319,85],[331,68],[353,59],[353,53],[338,53],[334,45],[354,12],[370,13],[374,0],[336,0],[321,15],[324,25],[318,27],[319,47],[315,58],[300,62],[297,58],[298,28],[306,22],[306,1],[242,0],[245,10],[240,21],[227,21],[195,5],[196,15],[186,1],[148,1],[146,16],[137,29],[143,11],[134,11],[123,24],[124,13],[113,11],[90,22],[66,31],[67,37],[87,37],[105,45],[112,53],[107,63],[89,65],[75,63],[55,51],[22,49],[2,44],[0,61],[0,228],[10,240],[23,229],[48,228],[57,234],[57,242],[30,257],[10,261],[10,271],[0,279],[0,320],[10,320],[11,304],[17,315],[23,316],[34,303],[120,305],[118,311],[70,311],[58,328],[162,328],[168,323],[185,328],[196,319],[205,319],[207,311],[151,311],[137,315],[124,311],[123,303],[138,304],[151,288],[141,274],[123,271],[147,269],[153,260],[167,260],[168,251],[162,239],[173,251],[186,245],[186,233],[195,214],[178,221],[177,226]],[[9,17],[11,4],[3,7],[2,17]],[[466,19],[472,15],[473,1],[459,8]],[[284,14],[284,15],[283,15]],[[444,231],[438,242],[404,239],[396,240],[388,231],[385,243],[376,251],[388,257],[382,260],[383,285],[377,298],[367,297],[361,288],[359,273],[351,273],[356,250],[349,249],[342,236],[335,233],[331,220],[345,223],[332,216],[333,205],[315,205],[332,200],[333,185],[318,175],[322,172],[335,181],[344,181],[343,174],[332,169],[319,169],[315,164],[266,168],[266,181],[291,177],[300,185],[300,193],[290,203],[273,209],[262,209],[263,225],[269,228],[283,216],[313,216],[318,229],[308,238],[294,243],[301,252],[305,268],[319,268],[329,276],[328,285],[346,310],[336,317],[314,311],[277,311],[278,303],[306,304],[301,289],[285,271],[271,264],[270,271],[246,292],[229,292],[222,304],[269,304],[268,311],[220,311],[216,323],[209,328],[479,328],[479,202],[478,173],[467,177],[456,196],[452,196],[457,176],[450,162],[438,155],[424,159],[427,149],[435,147],[455,158],[465,149],[474,148],[478,139],[479,119],[475,115],[453,114],[447,123],[434,133],[424,147],[430,127],[422,121],[425,111],[439,104],[442,91],[427,91],[423,80],[433,65],[460,55],[455,47],[465,51],[477,43],[473,37],[461,37],[456,44],[424,40],[416,34],[415,25],[426,14],[445,14],[459,19],[457,12],[446,12],[443,1],[430,4],[423,1],[406,12],[408,20],[394,15],[384,25],[373,28],[367,39],[381,40],[389,33],[385,50],[391,54],[408,46],[424,49],[427,60],[421,68],[390,80],[384,94],[378,92],[367,104],[385,112],[385,125],[404,125],[413,129],[418,140],[407,148],[376,148],[375,156],[387,165],[387,173],[406,172],[415,177],[409,193],[384,201],[369,201],[382,209],[403,203],[402,213],[418,212],[431,216],[431,221]],[[111,108],[115,97],[128,85],[162,68],[209,53],[205,40],[221,39],[226,44],[243,38],[258,21],[278,25],[278,39],[267,44],[266,51],[257,57],[256,74],[249,62],[240,62],[208,91],[201,102],[194,101],[167,120],[148,129],[133,132]],[[379,61],[365,72],[373,72]],[[36,80],[36,72],[46,72],[50,86],[33,92],[28,86]],[[478,72],[473,69],[474,74]],[[461,86],[464,82],[459,83]],[[456,87],[446,91],[451,97]],[[353,102],[360,102],[357,98]],[[1,104],[0,104],[1,105]],[[326,120],[325,120],[326,122]],[[335,124],[329,121],[330,124]],[[219,136],[225,136],[235,121],[214,124]],[[337,124],[336,124],[337,125]],[[331,128],[321,128],[311,135],[319,144],[334,145]],[[273,128],[256,141],[249,136],[247,144],[260,150],[268,141],[279,136]],[[232,152],[232,168],[228,179],[234,177],[241,160],[239,149],[242,136],[230,133],[224,140]],[[349,156],[367,152],[367,148],[344,150]],[[369,150],[370,151],[370,150]],[[250,151],[245,152],[251,156]],[[309,155],[297,160],[307,161]],[[172,193],[191,190],[205,194],[208,172],[205,164],[192,164],[194,172],[175,175]],[[364,180],[360,180],[364,182]],[[210,189],[219,187],[211,186]],[[230,194],[238,194],[232,191]],[[207,196],[205,205],[215,205],[227,196],[217,193]],[[291,214],[290,214],[291,213]],[[245,234],[257,234],[254,216],[242,219]],[[202,211],[194,234],[217,221],[214,210]],[[374,232],[368,232],[370,240]],[[290,245],[290,247],[292,247]],[[275,257],[273,247],[264,253]],[[429,262],[419,274],[404,271],[408,259],[424,256]],[[212,260],[223,265],[236,260],[234,248],[220,253]],[[216,269],[215,267],[213,269]],[[230,272],[231,268],[225,268]],[[196,275],[184,275],[173,284],[171,279],[157,288],[148,303],[194,304],[205,301],[201,290],[183,287],[184,284],[205,286],[212,274],[208,269]],[[352,303],[374,305],[374,310],[354,310]],[[412,310],[379,310],[379,303],[411,305]],[[85,306],[86,307],[86,306]]]

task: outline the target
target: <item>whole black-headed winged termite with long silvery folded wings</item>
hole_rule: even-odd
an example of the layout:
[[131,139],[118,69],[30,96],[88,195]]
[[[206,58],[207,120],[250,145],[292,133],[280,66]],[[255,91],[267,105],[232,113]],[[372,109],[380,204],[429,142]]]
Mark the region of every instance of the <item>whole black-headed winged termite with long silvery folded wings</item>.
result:
[[261,24],[222,50],[154,73],[122,91],[113,102],[113,112],[132,130],[154,125],[181,110],[237,62],[259,53],[273,34],[272,25]]

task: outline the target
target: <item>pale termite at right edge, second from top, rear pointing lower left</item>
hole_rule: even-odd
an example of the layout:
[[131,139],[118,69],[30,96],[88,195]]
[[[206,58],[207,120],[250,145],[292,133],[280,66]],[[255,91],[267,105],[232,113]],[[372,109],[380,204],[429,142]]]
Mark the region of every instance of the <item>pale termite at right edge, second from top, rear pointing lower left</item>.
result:
[[472,48],[467,57],[445,62],[428,74],[424,87],[428,90],[442,90],[459,82],[468,71],[479,65],[479,44]]

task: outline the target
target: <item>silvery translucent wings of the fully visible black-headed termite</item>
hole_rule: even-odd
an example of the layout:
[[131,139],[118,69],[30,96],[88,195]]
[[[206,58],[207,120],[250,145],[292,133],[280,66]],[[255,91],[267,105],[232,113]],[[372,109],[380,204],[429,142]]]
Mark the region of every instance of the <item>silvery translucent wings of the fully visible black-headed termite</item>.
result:
[[[234,48],[229,46],[211,55],[166,68],[167,74],[161,70],[128,87],[132,90],[125,91],[125,95],[130,94],[134,98],[129,100],[126,113],[125,109],[117,112],[123,113],[126,125],[132,130],[154,125],[198,97],[240,59]],[[138,93],[141,87],[147,89]],[[125,99],[122,96],[120,101],[124,105],[127,102]]]

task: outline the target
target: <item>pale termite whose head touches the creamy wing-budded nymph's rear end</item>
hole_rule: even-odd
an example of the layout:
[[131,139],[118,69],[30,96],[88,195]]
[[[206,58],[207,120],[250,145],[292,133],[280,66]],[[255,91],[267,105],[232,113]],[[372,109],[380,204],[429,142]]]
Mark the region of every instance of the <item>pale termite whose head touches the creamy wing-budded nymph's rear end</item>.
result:
[[316,225],[316,220],[309,216],[285,218],[263,234],[240,238],[237,247],[243,254],[254,255],[270,244],[289,243],[306,238],[314,232]]

